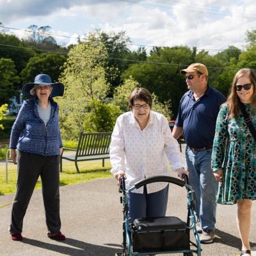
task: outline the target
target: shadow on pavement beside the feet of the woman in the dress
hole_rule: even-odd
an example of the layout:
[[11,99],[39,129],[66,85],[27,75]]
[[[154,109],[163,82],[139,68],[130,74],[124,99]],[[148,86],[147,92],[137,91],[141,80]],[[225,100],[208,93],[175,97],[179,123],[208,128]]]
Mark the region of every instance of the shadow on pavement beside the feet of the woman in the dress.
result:
[[[215,234],[218,237],[215,237],[214,243],[225,244],[225,245],[237,248],[238,250],[241,250],[242,243],[239,237],[232,236],[226,232],[219,230],[218,228],[216,228]],[[250,244],[252,247],[256,246],[256,243],[250,243]]]

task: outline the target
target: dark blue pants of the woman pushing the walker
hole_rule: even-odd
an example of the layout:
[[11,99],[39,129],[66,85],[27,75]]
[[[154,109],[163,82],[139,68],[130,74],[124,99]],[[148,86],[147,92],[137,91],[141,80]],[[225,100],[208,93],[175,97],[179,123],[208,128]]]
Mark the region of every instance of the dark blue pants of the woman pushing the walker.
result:
[[168,202],[169,185],[155,193],[147,193],[144,186],[143,194],[129,193],[129,218],[132,223],[136,218],[164,217]]

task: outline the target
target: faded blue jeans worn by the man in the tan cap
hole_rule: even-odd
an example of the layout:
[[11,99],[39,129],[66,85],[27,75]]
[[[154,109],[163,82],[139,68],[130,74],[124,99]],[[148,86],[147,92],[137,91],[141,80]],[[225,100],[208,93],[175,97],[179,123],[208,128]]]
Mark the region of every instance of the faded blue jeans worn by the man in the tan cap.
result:
[[195,212],[203,230],[213,230],[216,223],[218,182],[211,169],[212,149],[195,152],[186,148],[189,184],[195,190]]

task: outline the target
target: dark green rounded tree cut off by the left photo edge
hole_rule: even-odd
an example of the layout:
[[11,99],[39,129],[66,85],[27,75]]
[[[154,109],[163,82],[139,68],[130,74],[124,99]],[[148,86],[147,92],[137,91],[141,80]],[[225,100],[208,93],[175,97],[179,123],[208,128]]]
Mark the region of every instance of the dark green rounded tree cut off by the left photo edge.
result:
[[0,59],[0,105],[10,103],[10,98],[17,92],[15,83],[19,83],[14,61]]

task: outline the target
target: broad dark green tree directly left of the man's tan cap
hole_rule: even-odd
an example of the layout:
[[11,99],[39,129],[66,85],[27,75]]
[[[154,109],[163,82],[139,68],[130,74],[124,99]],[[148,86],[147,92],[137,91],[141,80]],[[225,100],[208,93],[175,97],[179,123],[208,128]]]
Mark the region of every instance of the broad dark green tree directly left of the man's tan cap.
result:
[[150,52],[147,58],[148,63],[130,65],[122,74],[122,79],[124,81],[132,76],[142,87],[155,93],[159,102],[164,103],[170,100],[172,117],[175,117],[178,113],[180,98],[187,90],[184,77],[180,75],[180,69],[186,66],[186,63],[193,63],[193,58],[193,51],[189,47],[157,47]]

